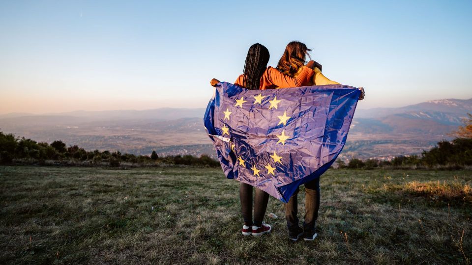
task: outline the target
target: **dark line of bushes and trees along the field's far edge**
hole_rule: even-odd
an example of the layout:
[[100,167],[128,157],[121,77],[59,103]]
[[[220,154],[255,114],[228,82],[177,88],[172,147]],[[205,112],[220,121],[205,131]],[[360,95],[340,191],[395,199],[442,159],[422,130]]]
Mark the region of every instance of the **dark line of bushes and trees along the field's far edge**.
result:
[[[457,136],[452,141],[440,141],[437,146],[429,151],[423,151],[420,156],[400,156],[390,161],[379,159],[361,160],[353,158],[348,163],[338,160],[339,168],[374,169],[383,167],[450,167],[461,168],[472,165],[472,115],[466,120],[465,126],[460,126],[453,135]],[[219,167],[220,163],[209,157],[201,155],[194,157],[166,156],[159,157],[156,151],[150,156],[121,154],[119,151],[86,151],[77,145],[67,147],[60,140],[51,144],[36,142],[25,137],[19,138],[12,133],[5,134],[0,131],[0,163],[8,164],[13,161],[20,163],[44,163],[45,161],[83,161],[92,165],[119,166],[122,162],[129,164],[171,164]]]

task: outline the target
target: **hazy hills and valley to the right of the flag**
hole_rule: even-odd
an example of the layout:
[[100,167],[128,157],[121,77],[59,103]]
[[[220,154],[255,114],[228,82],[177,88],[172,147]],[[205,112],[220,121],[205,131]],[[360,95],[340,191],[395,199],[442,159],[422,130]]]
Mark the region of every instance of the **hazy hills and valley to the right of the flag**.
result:
[[358,109],[344,158],[390,159],[420,154],[449,139],[472,113],[472,99],[442,99],[397,108]]

